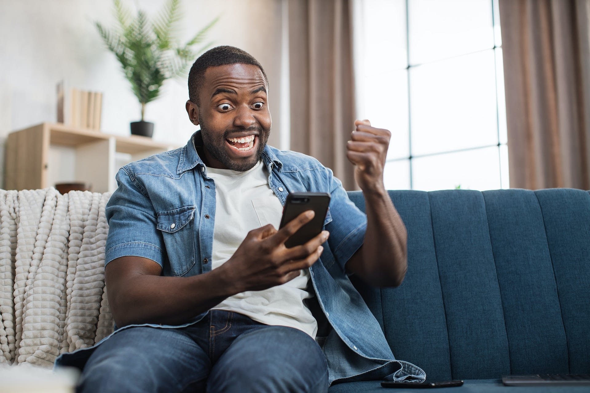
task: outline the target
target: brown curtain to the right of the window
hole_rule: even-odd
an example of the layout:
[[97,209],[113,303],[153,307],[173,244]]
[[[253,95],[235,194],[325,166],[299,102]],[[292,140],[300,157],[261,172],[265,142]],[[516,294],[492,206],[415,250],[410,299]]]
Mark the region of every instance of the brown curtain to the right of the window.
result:
[[588,0],[500,0],[510,187],[590,189]]

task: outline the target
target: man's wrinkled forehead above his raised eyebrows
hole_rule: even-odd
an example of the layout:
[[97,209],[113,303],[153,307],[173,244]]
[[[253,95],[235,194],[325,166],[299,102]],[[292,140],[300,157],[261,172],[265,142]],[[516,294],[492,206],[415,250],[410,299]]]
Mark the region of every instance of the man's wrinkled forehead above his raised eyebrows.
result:
[[221,86],[248,88],[264,85],[268,90],[262,71],[253,64],[226,64],[209,67],[204,76],[203,90],[207,95]]

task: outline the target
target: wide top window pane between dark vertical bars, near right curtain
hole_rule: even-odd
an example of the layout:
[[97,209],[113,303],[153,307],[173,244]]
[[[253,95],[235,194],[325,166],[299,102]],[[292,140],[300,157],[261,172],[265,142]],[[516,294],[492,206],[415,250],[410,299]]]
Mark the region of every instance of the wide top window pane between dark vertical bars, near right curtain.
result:
[[490,0],[409,0],[410,64],[491,49]]

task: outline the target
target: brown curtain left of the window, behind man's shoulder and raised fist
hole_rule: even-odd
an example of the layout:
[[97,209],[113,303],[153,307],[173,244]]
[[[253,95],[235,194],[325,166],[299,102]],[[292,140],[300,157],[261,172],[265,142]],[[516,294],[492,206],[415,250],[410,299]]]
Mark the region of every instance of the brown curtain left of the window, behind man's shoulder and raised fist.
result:
[[290,0],[291,150],[316,157],[356,189],[346,141],[354,128],[349,0]]

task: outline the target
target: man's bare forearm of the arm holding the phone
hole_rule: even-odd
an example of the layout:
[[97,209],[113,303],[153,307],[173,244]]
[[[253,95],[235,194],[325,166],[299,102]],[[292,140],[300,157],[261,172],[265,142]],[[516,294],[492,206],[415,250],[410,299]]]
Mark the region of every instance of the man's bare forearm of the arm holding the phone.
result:
[[184,323],[238,293],[222,273],[222,269],[191,277],[132,273],[124,285],[113,286],[113,290],[107,277],[107,295],[114,321],[118,326]]

